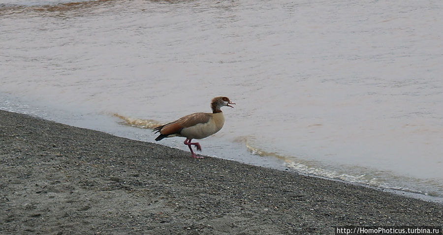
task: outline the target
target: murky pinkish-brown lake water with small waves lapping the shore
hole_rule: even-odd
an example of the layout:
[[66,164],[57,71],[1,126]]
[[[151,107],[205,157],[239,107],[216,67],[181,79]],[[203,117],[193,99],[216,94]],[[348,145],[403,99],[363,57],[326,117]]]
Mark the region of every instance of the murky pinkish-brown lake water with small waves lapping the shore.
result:
[[0,108],[155,142],[149,128],[223,95],[237,105],[202,154],[443,197],[442,12],[433,0],[3,0]]

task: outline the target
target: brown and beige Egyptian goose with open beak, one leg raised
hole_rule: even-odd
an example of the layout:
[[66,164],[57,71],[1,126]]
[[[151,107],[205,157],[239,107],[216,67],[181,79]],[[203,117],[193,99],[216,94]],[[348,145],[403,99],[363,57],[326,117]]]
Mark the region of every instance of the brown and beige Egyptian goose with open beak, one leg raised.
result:
[[203,158],[195,155],[194,151],[192,151],[191,145],[197,147],[197,150],[201,150],[201,147],[198,143],[191,143],[191,140],[203,139],[217,133],[224,124],[224,117],[223,113],[221,112],[221,107],[228,106],[234,108],[230,106],[231,104],[235,103],[232,103],[228,97],[215,97],[211,101],[212,114],[190,114],[173,122],[158,126],[154,128],[156,133],[160,133],[160,135],[156,138],[156,141],[174,136],[186,137],[184,143],[189,147],[191,157]]

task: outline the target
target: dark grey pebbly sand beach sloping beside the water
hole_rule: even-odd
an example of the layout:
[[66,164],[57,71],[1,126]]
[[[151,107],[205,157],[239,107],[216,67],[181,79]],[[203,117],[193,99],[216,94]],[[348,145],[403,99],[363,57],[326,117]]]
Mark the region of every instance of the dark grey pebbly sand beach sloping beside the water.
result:
[[333,234],[443,205],[0,111],[0,234]]

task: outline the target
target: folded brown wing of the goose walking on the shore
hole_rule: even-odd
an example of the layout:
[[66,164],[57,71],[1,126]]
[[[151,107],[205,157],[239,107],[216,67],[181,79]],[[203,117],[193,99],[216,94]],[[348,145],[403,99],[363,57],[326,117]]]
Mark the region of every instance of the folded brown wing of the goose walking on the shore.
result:
[[206,123],[209,121],[210,118],[211,114],[209,113],[190,114],[176,121],[170,122],[163,126],[159,126],[156,129],[160,132],[161,135],[167,137],[169,135],[180,134],[180,131],[183,128],[187,128],[198,123]]

